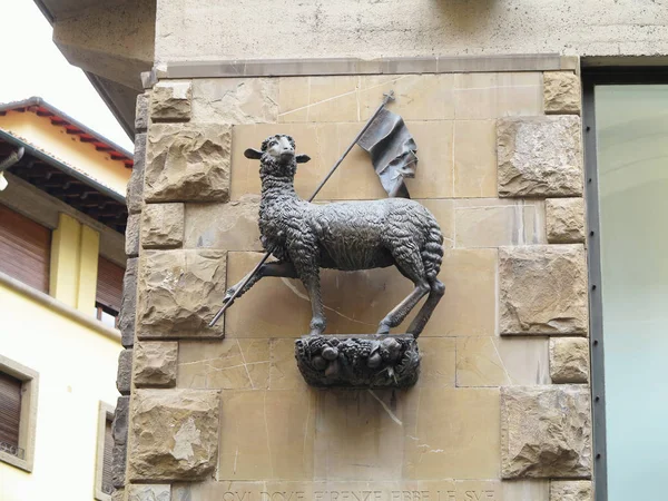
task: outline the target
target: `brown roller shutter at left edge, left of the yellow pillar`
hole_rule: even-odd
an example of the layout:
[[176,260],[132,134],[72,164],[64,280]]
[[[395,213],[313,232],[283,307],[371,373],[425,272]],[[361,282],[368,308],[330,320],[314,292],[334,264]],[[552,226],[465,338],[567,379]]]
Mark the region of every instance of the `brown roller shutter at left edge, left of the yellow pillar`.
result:
[[0,204],[0,272],[49,292],[51,232]]

